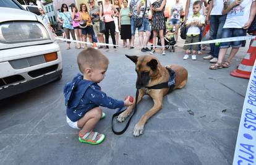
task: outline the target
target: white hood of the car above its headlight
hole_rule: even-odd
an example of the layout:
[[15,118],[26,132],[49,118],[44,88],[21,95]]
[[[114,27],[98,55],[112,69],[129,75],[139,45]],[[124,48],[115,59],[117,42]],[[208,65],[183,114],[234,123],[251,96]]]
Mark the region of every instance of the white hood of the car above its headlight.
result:
[[7,7],[0,7],[0,22],[12,20],[32,20],[37,21],[36,15],[32,12],[23,11],[20,9],[12,9]]

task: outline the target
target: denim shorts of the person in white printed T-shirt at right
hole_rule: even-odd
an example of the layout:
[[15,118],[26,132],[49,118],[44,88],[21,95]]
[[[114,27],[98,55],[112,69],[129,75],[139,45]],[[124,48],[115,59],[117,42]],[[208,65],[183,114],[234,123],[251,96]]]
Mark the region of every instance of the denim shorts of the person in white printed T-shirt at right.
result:
[[[229,38],[234,36],[245,36],[245,35],[246,35],[246,30],[243,28],[223,28],[221,38]],[[240,48],[242,46],[242,42],[243,41],[220,43],[220,49],[229,48],[230,46],[232,46],[232,48]]]

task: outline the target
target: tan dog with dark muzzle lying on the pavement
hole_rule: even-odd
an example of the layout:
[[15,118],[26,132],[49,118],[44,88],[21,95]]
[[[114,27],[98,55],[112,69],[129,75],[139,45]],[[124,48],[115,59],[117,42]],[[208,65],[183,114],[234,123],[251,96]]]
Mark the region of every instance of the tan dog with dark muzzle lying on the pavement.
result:
[[[155,56],[127,56],[132,62],[135,63],[135,70],[137,72],[137,82],[136,88],[139,89],[139,96],[137,98],[137,103],[140,102],[143,95],[149,95],[153,101],[154,106],[148,110],[140,118],[140,121],[134,127],[134,136],[138,137],[142,135],[144,126],[148,119],[153,116],[156,112],[163,108],[163,96],[168,94],[169,88],[162,89],[151,89],[146,87],[151,87],[163,82],[168,82],[169,71],[161,66],[160,62]],[[171,65],[167,66],[175,72],[175,86],[174,89],[183,88],[187,83],[187,70],[182,66]],[[126,111],[119,114],[117,121],[123,122],[134,109],[135,104],[129,106]]]

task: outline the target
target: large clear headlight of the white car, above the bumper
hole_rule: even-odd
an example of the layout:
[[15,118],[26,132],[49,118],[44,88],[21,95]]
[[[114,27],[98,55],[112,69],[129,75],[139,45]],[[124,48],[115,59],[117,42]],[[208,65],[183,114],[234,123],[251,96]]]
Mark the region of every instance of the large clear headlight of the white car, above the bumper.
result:
[[49,40],[45,27],[38,22],[14,21],[0,25],[1,43],[22,43]]

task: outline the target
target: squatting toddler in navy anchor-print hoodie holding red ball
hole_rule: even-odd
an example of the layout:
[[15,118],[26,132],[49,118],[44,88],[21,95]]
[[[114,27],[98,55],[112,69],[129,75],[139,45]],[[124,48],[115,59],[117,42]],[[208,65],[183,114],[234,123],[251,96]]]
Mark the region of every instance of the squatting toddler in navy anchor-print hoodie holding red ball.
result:
[[97,145],[105,139],[104,134],[93,132],[98,121],[105,117],[99,106],[116,109],[132,103],[129,97],[125,101],[117,100],[101,91],[98,83],[105,77],[109,61],[100,51],[93,48],[81,51],[77,64],[82,75],[77,75],[64,87],[67,123],[74,129],[80,129],[80,142]]

